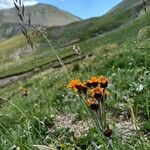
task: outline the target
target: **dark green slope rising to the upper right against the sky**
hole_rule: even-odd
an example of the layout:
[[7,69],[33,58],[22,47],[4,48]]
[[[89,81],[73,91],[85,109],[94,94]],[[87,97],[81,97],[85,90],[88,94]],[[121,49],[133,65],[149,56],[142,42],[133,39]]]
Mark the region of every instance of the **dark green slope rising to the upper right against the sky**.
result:
[[[150,2],[147,1],[147,5]],[[102,17],[73,23],[64,27],[49,28],[49,38],[57,39],[57,45],[72,43],[75,39],[84,41],[89,38],[101,36],[114,29],[125,26],[143,14],[141,0],[124,0]],[[71,34],[69,34],[71,33]]]

